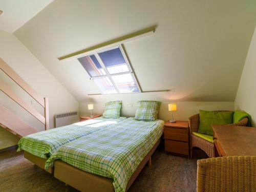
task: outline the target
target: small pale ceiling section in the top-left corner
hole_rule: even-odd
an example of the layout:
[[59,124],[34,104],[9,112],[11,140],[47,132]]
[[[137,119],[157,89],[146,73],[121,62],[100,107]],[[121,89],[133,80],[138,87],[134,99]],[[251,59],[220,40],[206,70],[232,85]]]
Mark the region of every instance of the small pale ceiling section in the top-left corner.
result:
[[0,30],[13,33],[53,0],[1,0]]

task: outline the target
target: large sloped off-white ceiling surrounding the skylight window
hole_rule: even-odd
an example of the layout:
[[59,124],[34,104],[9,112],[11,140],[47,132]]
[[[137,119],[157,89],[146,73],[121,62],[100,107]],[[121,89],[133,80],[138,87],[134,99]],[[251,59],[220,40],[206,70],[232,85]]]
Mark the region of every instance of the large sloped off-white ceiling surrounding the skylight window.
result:
[[[142,90],[233,101],[256,24],[256,1],[55,0],[14,34],[78,101],[99,93],[77,60],[58,57],[156,25],[124,44]],[[121,96],[120,96],[121,97]]]

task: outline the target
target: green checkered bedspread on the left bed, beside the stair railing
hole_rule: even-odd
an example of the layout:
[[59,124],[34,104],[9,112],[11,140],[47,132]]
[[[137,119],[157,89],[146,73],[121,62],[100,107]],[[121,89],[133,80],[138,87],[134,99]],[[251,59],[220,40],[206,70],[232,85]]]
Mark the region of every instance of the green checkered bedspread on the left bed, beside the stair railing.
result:
[[63,144],[97,132],[124,119],[126,117],[120,117],[118,119],[98,117],[48,131],[34,133],[19,140],[17,151],[24,150],[37,157],[47,159]]

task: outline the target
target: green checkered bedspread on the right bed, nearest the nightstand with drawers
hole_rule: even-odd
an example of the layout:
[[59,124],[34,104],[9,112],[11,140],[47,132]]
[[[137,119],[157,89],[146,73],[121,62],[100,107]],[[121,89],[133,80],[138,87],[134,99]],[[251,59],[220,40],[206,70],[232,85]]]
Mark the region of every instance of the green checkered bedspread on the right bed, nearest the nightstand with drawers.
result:
[[115,191],[125,191],[140,162],[163,133],[162,120],[127,118],[58,148],[45,168],[61,159],[86,172],[112,178]]

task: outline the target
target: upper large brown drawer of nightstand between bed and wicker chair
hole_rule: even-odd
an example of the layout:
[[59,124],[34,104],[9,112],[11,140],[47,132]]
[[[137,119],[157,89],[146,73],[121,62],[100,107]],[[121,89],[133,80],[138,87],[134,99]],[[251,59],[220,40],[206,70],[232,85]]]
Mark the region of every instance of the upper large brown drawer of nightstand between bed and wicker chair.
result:
[[164,139],[188,142],[188,130],[164,127]]

